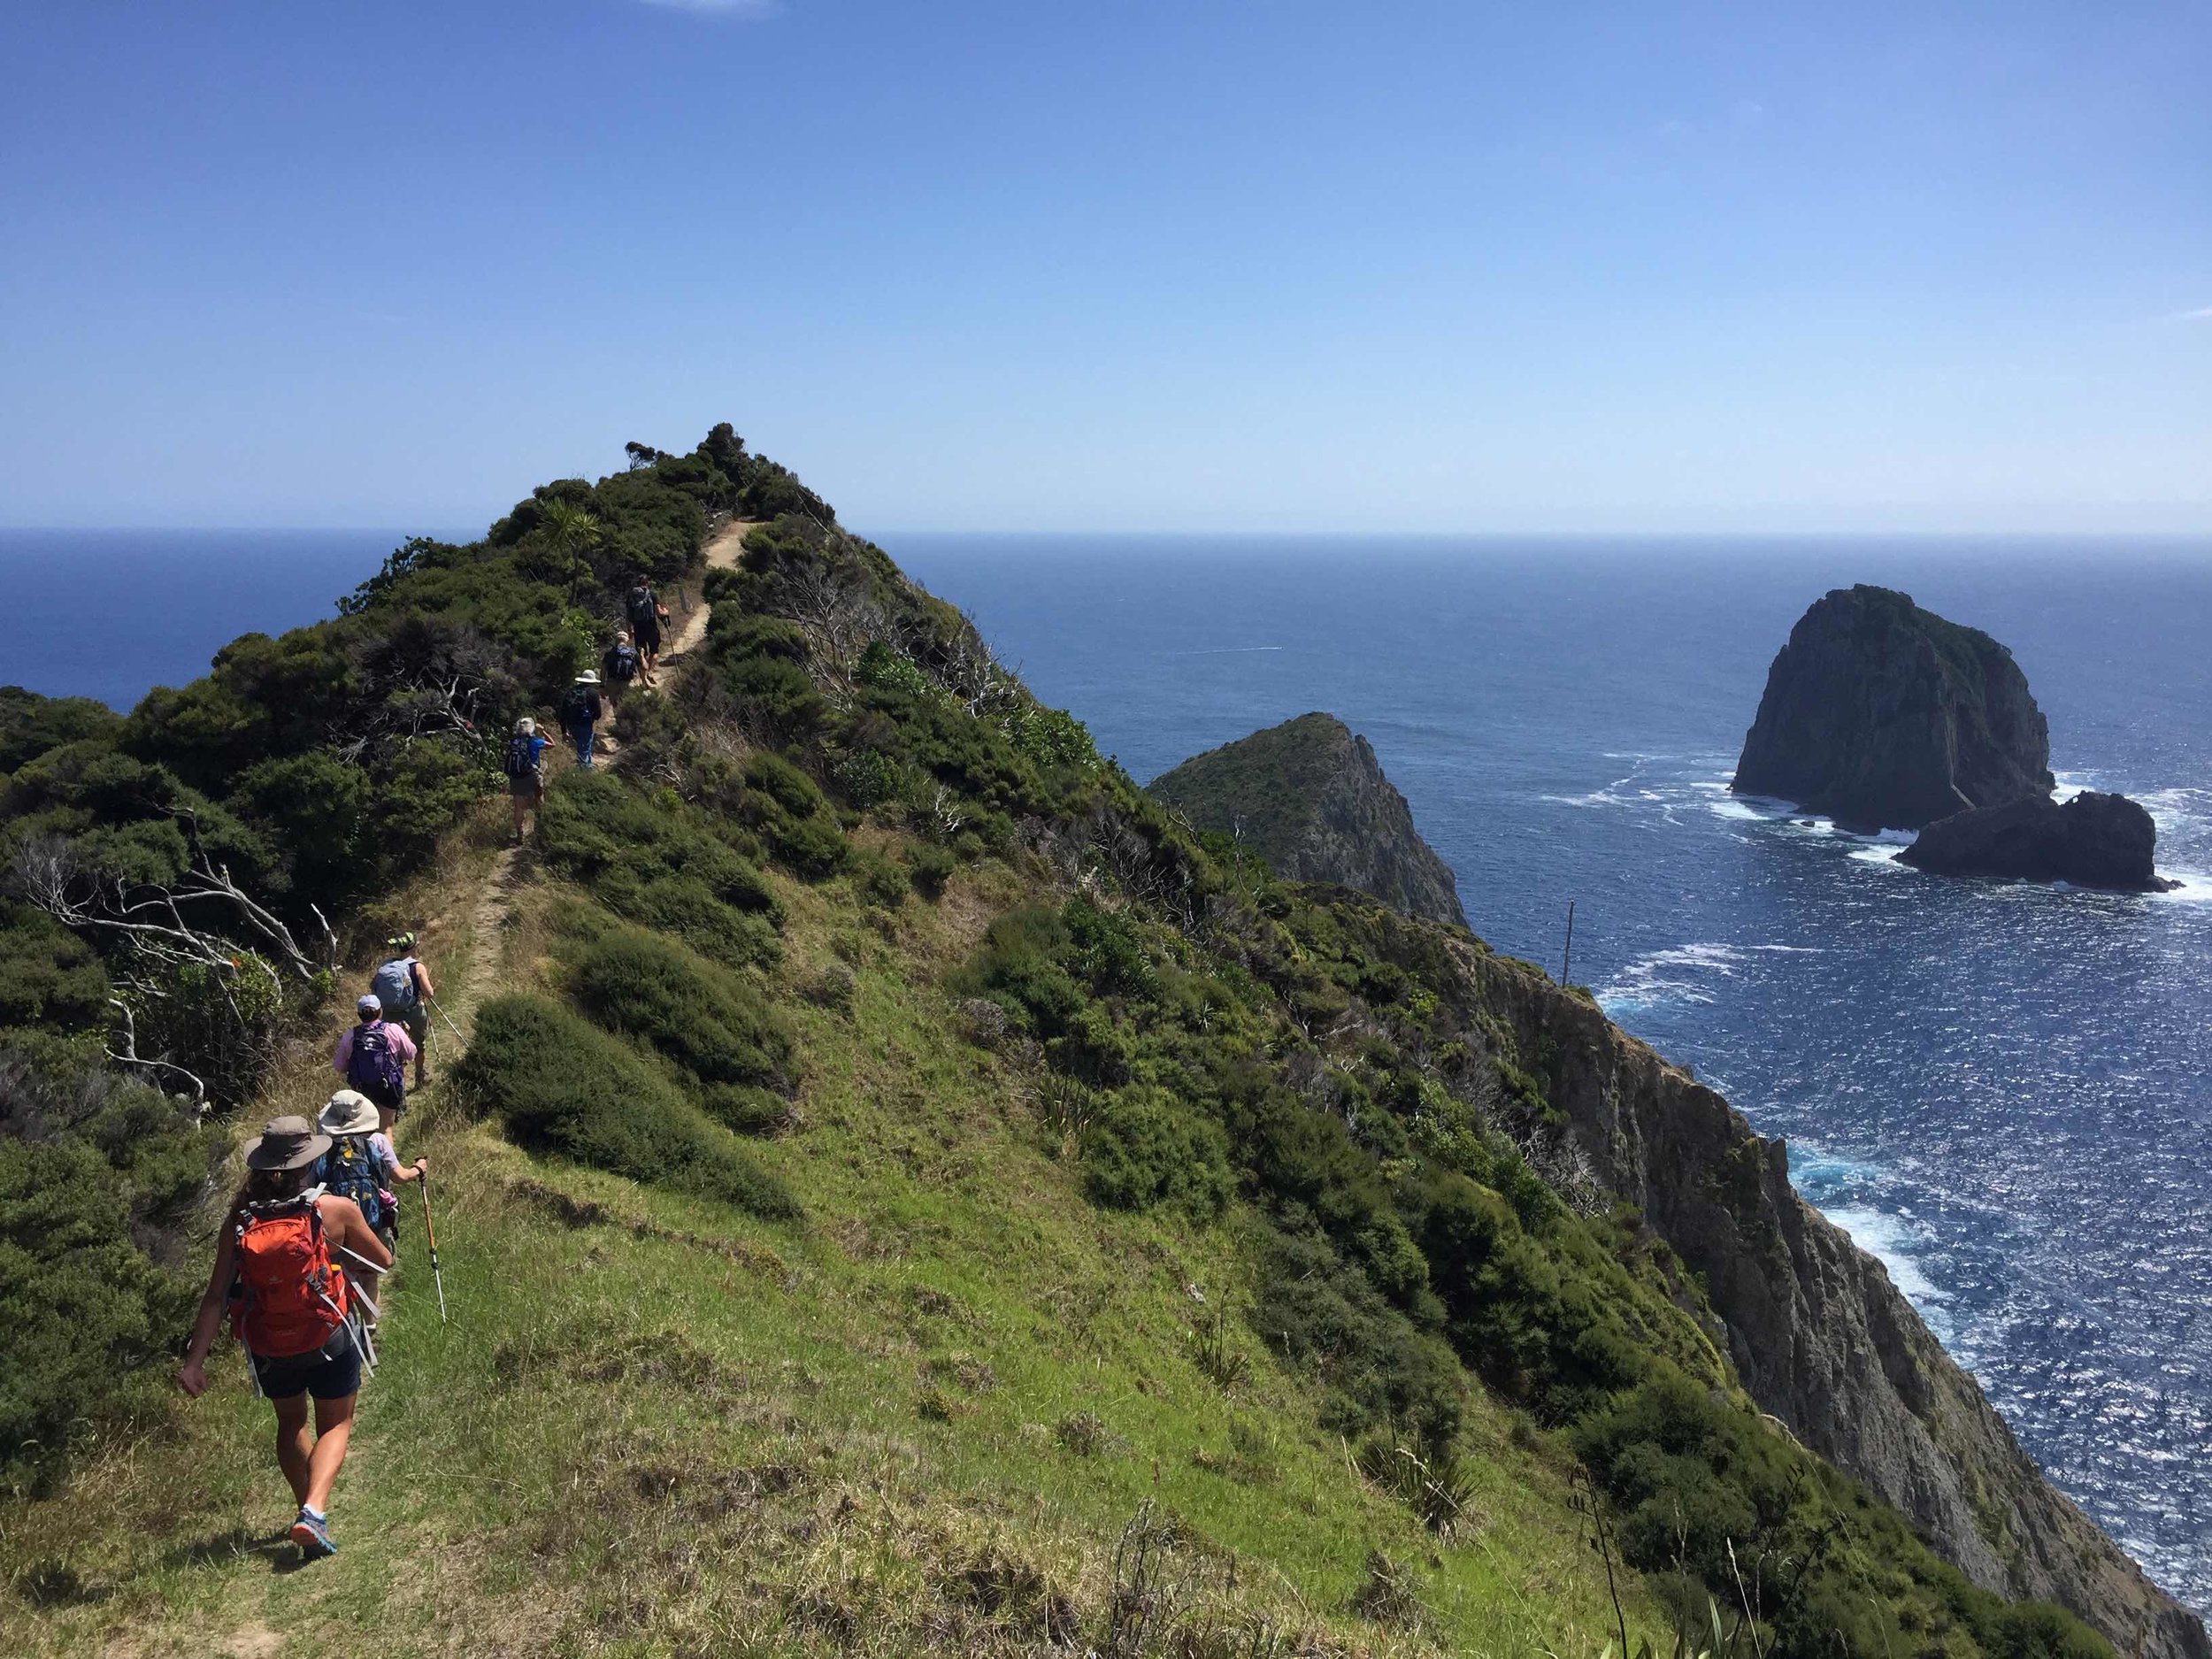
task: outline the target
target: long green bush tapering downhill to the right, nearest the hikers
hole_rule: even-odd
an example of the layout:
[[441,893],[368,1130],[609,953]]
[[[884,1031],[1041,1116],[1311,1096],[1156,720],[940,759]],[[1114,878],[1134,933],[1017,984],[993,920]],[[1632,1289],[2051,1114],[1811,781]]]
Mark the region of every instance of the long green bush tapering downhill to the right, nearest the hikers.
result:
[[557,1002],[502,995],[476,1015],[456,1086],[509,1137],[633,1181],[723,1199],[768,1219],[799,1201],[719,1124],[613,1037]]

